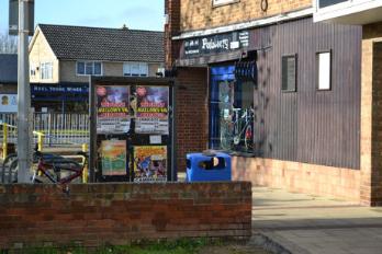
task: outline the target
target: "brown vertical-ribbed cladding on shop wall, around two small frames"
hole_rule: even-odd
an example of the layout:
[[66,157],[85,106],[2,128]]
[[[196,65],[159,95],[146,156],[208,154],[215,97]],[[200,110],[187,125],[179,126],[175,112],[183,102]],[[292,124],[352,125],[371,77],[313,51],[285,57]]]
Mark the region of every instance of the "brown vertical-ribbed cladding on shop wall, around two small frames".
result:
[[[252,31],[259,88],[255,137],[258,155],[360,168],[360,26],[312,19]],[[316,54],[332,53],[332,90],[317,91]],[[297,56],[296,92],[281,91],[281,58]]]

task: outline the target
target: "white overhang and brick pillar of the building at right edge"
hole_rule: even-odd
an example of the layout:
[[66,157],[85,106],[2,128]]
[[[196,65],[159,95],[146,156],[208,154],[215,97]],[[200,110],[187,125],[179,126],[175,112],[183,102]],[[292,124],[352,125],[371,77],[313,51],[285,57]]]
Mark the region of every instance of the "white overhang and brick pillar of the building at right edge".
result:
[[[317,23],[362,25],[361,197],[382,205],[382,1],[313,0]],[[351,51],[345,54],[351,55]]]

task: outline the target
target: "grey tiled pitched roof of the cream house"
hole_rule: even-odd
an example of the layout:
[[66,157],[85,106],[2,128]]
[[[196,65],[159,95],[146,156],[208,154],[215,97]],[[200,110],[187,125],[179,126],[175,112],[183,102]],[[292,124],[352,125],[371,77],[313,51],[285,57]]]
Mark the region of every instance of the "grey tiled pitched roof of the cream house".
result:
[[40,24],[58,59],[164,62],[164,33]]

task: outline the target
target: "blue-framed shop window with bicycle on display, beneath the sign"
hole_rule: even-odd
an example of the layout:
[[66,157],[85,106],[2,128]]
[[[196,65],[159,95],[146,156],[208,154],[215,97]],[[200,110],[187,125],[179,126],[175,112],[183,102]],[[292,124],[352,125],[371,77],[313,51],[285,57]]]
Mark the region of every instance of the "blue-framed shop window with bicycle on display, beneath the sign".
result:
[[[218,80],[221,79],[222,80]],[[227,151],[254,150],[254,81],[234,76],[213,77],[210,97],[210,147]]]

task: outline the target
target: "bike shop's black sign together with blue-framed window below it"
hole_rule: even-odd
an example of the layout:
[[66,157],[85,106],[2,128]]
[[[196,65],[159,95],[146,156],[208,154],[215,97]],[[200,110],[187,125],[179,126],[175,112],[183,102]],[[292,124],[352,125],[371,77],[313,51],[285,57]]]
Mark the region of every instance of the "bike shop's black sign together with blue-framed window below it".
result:
[[209,148],[254,153],[257,51],[249,31],[184,39],[179,66],[209,71]]

